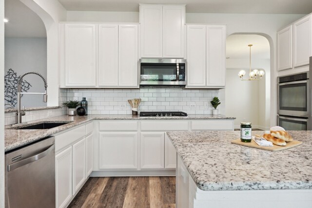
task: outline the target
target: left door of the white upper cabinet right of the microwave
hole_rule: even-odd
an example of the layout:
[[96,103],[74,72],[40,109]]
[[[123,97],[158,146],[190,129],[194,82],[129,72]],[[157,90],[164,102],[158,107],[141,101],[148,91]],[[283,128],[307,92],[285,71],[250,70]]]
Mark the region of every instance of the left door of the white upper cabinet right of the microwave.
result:
[[187,86],[206,86],[206,25],[187,26]]

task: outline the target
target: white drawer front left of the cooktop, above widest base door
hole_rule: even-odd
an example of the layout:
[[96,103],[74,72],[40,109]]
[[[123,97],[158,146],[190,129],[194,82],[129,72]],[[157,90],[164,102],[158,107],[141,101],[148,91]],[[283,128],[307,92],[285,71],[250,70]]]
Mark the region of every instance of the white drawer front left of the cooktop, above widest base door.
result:
[[137,131],[137,121],[100,121],[99,131]]

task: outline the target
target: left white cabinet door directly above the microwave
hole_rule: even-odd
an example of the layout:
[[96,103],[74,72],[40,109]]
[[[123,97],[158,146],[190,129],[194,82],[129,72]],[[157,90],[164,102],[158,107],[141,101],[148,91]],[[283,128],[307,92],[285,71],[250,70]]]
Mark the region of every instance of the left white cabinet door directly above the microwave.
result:
[[162,6],[140,5],[141,57],[162,57]]

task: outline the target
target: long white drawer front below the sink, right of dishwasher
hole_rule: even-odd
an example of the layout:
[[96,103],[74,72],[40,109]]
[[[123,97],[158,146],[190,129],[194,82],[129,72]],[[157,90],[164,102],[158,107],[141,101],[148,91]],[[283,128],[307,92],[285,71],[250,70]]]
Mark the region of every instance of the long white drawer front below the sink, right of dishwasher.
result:
[[55,136],[55,152],[84,137],[85,133],[86,127],[83,125]]

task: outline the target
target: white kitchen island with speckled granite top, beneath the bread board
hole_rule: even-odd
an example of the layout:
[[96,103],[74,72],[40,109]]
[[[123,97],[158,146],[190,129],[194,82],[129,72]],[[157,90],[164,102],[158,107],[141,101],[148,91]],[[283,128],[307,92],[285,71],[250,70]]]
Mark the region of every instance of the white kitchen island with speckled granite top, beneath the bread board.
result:
[[303,144],[273,152],[231,144],[238,131],[167,132],[177,151],[177,207],[311,208],[312,131],[289,133]]

